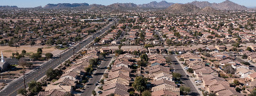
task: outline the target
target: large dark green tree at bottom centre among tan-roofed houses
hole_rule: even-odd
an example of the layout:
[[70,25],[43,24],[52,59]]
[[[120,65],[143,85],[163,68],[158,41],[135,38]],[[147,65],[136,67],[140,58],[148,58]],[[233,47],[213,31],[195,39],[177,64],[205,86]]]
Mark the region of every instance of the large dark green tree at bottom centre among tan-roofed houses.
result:
[[146,89],[147,81],[148,81],[147,78],[141,77],[141,76],[137,76],[137,77],[135,77],[134,83],[132,83],[132,87],[134,88],[134,90],[136,90],[136,91],[141,93],[141,92],[143,92],[143,90]]

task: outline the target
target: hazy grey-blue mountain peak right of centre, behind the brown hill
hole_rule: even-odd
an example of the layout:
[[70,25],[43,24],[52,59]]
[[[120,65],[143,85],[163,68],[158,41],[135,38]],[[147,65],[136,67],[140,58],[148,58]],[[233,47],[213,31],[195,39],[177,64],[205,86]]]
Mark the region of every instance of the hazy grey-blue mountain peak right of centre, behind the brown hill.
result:
[[161,2],[157,3],[156,1],[153,1],[148,4],[140,4],[139,6],[144,7],[144,8],[168,8],[172,4],[174,4],[174,3],[168,3],[166,1],[161,1]]

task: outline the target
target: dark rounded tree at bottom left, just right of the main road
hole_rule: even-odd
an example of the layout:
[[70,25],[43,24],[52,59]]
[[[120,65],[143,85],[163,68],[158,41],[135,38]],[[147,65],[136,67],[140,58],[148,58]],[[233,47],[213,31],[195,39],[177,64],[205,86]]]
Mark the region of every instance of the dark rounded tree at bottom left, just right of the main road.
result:
[[42,90],[42,85],[41,83],[37,82],[36,81],[31,81],[30,83],[28,83],[28,87],[29,87],[29,91],[31,91],[32,93],[37,93],[37,92],[40,92]]

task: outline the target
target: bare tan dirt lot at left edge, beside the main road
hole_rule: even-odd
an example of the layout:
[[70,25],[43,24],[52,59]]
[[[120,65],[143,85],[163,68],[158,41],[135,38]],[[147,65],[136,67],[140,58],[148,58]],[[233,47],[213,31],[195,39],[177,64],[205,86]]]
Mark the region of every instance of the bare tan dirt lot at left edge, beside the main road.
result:
[[32,52],[36,52],[38,48],[42,48],[43,49],[43,54],[47,53],[47,52],[52,52],[55,51],[56,49],[54,47],[51,46],[47,46],[47,45],[22,45],[20,47],[10,47],[10,46],[0,46],[0,52],[3,51],[3,55],[6,57],[10,57],[12,56],[13,52],[18,51],[19,53],[21,53],[21,51],[24,49],[25,51],[27,51],[27,53],[31,54]]

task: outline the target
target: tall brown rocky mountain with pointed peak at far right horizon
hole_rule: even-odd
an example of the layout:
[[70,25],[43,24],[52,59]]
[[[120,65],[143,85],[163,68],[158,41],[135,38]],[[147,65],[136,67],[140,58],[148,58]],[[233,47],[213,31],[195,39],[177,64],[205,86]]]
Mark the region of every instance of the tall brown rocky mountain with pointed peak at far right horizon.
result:
[[222,3],[209,3],[207,1],[193,1],[192,3],[187,4],[193,4],[195,6],[198,6],[200,8],[205,8],[207,6],[218,9],[218,10],[244,10],[248,9],[246,6],[242,6],[236,3],[233,3],[232,1],[226,0]]

